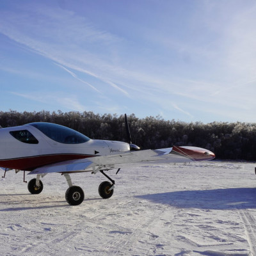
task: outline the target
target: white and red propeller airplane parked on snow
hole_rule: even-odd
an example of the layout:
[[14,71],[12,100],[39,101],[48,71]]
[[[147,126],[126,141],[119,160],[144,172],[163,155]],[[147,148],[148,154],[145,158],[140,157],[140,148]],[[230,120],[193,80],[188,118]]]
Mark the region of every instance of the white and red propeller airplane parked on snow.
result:
[[[131,134],[125,115],[127,136]],[[15,169],[36,175],[28,183],[31,194],[39,194],[44,186],[41,177],[47,173],[61,173],[67,179],[68,189],[65,198],[70,205],[79,205],[84,200],[84,192],[73,186],[70,173],[102,173],[109,181],[99,186],[99,195],[110,198],[113,195],[115,180],[105,171],[118,164],[141,161],[165,160],[170,163],[185,163],[213,159],[214,153],[198,147],[170,147],[156,150],[140,150],[132,143],[109,140],[91,140],[80,132],[68,127],[37,122],[0,129],[0,166],[6,171]],[[120,171],[118,171],[116,174]]]

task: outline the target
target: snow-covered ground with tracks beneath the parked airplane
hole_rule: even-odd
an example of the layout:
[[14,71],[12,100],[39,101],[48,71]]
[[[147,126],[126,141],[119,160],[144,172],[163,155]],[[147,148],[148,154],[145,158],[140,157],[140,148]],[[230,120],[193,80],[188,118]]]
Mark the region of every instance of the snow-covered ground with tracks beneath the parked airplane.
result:
[[[71,175],[83,204],[65,200],[65,177],[30,195],[23,173],[0,179],[1,255],[256,255],[256,163],[126,165],[114,195],[101,173]],[[3,172],[1,172],[3,175]],[[32,179],[26,175],[26,179]]]

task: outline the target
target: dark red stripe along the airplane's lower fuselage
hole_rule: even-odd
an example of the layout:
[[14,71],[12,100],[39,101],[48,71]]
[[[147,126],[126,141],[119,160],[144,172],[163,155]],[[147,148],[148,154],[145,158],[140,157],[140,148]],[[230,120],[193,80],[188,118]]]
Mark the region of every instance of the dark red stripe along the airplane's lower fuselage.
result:
[[54,154],[54,155],[43,155],[43,156],[30,156],[15,159],[0,160],[0,166],[10,169],[26,170],[31,171],[40,166],[47,164],[58,163],[62,161],[83,159],[93,157],[92,155],[81,155],[81,154]]

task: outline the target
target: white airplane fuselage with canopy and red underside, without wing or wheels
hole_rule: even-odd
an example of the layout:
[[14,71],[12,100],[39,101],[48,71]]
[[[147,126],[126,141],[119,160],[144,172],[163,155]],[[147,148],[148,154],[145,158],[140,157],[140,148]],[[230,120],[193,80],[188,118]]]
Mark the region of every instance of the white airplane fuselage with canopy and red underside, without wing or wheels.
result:
[[31,171],[60,161],[108,156],[129,150],[128,143],[91,140],[72,129],[49,123],[0,129],[0,166],[4,168]]

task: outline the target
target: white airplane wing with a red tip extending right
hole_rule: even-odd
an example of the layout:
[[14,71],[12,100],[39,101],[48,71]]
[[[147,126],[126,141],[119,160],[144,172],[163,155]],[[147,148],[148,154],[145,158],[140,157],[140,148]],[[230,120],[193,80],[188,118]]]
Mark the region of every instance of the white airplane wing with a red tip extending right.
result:
[[140,150],[115,154],[110,156],[96,156],[86,159],[62,161],[36,168],[29,174],[52,172],[90,172],[113,169],[115,164],[138,163],[143,161],[166,160],[170,163],[185,163],[191,161],[211,160],[214,154],[204,148],[175,147],[156,150]]

